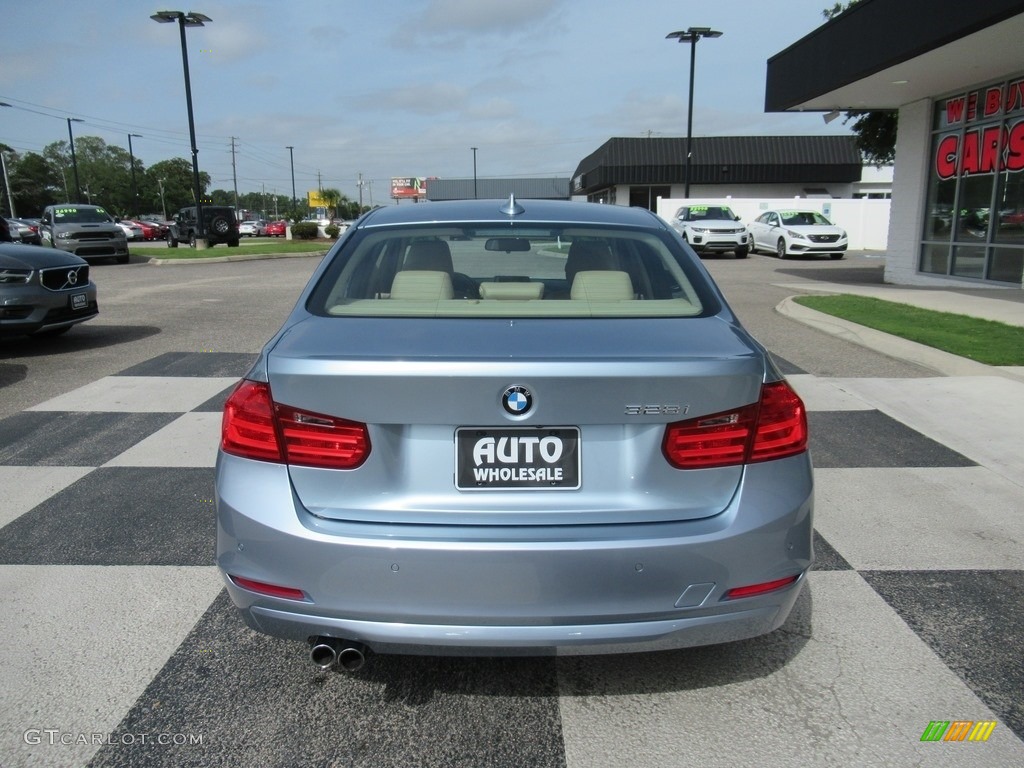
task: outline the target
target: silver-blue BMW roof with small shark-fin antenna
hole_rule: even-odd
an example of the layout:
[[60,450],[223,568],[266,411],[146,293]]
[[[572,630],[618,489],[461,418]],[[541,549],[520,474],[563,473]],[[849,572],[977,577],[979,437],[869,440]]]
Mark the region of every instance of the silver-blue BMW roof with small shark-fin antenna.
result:
[[[507,213],[508,206],[516,213]],[[520,210],[521,209],[521,210]],[[577,203],[562,200],[457,200],[376,208],[366,214],[360,227],[395,224],[425,224],[479,221],[487,223],[573,223],[613,224],[644,228],[664,228],[665,224],[645,208]]]

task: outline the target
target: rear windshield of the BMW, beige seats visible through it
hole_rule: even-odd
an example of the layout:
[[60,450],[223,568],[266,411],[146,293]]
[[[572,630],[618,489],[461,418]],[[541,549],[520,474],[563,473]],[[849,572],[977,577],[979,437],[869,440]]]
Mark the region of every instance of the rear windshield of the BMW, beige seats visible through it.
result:
[[307,309],[323,315],[681,317],[714,298],[672,238],[623,228],[368,228]]

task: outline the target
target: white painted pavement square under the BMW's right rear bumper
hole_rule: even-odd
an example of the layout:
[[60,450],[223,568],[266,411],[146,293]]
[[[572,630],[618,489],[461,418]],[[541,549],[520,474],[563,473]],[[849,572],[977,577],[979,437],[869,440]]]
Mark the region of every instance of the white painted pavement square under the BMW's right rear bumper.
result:
[[559,660],[568,768],[1024,765],[1001,723],[985,743],[922,742],[933,720],[997,718],[855,571],[809,587],[762,638]]

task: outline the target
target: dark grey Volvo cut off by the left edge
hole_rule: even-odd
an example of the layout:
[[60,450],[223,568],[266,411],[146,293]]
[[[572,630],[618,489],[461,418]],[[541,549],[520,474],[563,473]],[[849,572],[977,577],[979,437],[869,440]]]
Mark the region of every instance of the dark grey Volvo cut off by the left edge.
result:
[[55,336],[98,313],[84,259],[0,243],[0,337]]

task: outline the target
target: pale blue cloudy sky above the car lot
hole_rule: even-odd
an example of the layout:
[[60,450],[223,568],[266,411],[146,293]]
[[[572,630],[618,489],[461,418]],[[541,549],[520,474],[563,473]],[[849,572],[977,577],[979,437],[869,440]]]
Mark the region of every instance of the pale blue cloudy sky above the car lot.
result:
[[40,152],[99,136],[151,165],[189,157],[177,25],[187,30],[200,168],[214,188],[323,186],[387,203],[392,176],[568,177],[611,136],[846,133],[764,113],[766,61],[824,23],[830,0],[0,0],[0,141]]

